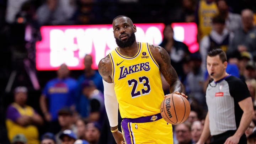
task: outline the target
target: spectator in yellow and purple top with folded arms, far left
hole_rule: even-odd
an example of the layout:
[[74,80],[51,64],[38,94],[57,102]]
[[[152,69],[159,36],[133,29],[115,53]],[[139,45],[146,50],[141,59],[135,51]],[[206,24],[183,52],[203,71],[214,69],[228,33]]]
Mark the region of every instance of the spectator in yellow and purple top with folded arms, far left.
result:
[[27,88],[16,87],[14,102],[6,111],[6,128],[8,138],[19,133],[26,136],[28,144],[39,144],[39,133],[36,125],[42,125],[42,117],[31,107],[26,105]]

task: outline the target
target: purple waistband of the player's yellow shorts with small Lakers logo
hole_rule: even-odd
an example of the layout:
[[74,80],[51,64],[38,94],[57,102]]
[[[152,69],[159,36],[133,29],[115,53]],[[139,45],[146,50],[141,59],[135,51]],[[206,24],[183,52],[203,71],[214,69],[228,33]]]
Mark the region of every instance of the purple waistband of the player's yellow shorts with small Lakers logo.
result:
[[152,116],[146,116],[146,117],[139,117],[139,118],[124,118],[123,122],[127,123],[147,123],[147,122],[153,122],[153,121],[158,121],[161,119],[161,113],[152,115]]

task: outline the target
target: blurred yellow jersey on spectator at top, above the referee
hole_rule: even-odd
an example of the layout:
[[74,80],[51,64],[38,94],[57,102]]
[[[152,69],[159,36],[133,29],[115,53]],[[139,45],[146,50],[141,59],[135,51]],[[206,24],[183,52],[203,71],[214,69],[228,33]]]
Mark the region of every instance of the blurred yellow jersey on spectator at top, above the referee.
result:
[[206,0],[200,0],[198,9],[199,30],[201,38],[208,35],[212,30],[212,18],[218,14],[218,7],[215,2],[207,4]]

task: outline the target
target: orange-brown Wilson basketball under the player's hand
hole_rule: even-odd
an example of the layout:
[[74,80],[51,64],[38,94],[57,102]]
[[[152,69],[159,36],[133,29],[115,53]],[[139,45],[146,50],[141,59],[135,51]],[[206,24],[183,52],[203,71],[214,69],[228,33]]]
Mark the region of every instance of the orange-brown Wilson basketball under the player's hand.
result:
[[190,114],[190,103],[182,95],[169,94],[162,101],[160,112],[166,122],[180,124],[186,121]]

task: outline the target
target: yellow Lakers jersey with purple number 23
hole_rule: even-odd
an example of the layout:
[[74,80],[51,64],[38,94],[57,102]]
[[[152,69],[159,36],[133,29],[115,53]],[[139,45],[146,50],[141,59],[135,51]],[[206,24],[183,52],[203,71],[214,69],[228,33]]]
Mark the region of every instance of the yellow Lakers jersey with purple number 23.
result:
[[138,118],[159,113],[164,92],[159,65],[148,43],[139,42],[139,50],[134,57],[125,57],[116,48],[110,53],[110,58],[121,117]]

